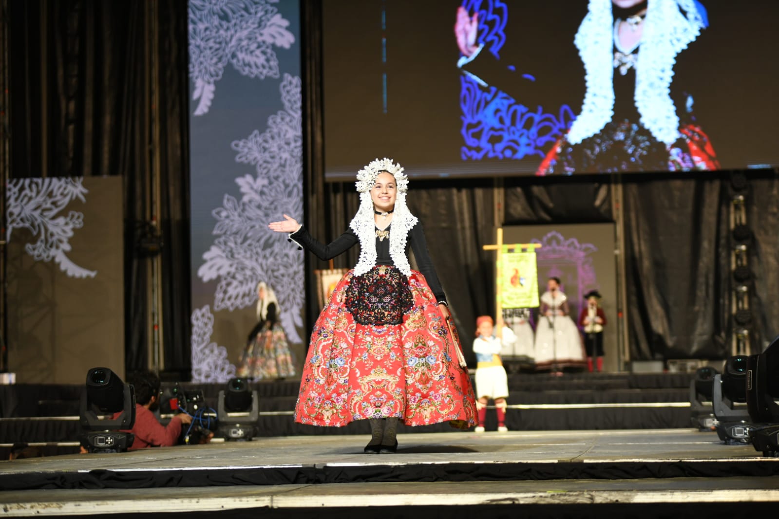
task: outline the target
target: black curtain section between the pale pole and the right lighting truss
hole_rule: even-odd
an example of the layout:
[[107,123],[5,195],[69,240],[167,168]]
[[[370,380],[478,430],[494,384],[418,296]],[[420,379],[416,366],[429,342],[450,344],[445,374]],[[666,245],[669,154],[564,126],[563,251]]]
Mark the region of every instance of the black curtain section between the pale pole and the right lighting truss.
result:
[[728,356],[728,212],[721,184],[625,184],[633,359]]

